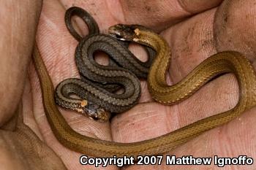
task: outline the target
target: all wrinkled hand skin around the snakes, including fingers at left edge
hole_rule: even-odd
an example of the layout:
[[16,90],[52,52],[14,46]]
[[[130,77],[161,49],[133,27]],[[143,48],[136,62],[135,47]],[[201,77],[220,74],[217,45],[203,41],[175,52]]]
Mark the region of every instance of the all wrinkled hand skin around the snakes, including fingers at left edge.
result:
[[[45,0],[37,43],[55,86],[65,78],[78,77],[74,61],[78,42],[64,25],[65,9],[72,5],[90,12],[101,31],[116,23],[137,23],[158,31],[172,50],[173,58],[167,75],[170,84],[178,82],[205,58],[222,50],[244,53],[255,66],[256,4],[252,0]],[[40,6],[39,0],[1,1],[1,167],[8,170],[65,169],[65,165],[67,169],[86,169],[89,166],[79,163],[80,153],[63,147],[53,136],[42,108],[39,81],[30,62]],[[86,35],[84,24],[80,20],[77,23],[80,32]],[[131,45],[130,49],[138,58],[146,60],[142,48]],[[99,54],[99,62],[106,62],[104,56]],[[232,74],[209,82],[194,96],[174,106],[152,101],[146,82],[142,81],[141,85],[140,104],[113,117],[111,123],[97,123],[63,109],[61,112],[80,134],[116,142],[136,142],[223,112],[238,101],[238,84]],[[23,109],[18,107],[21,101]],[[214,128],[167,155],[248,155],[256,158],[255,111],[251,109],[227,125]],[[218,169],[213,164],[162,166],[129,166],[127,169]],[[96,168],[90,166],[90,169]],[[118,168],[108,166],[105,169]],[[256,169],[256,165],[226,166],[225,169]]]

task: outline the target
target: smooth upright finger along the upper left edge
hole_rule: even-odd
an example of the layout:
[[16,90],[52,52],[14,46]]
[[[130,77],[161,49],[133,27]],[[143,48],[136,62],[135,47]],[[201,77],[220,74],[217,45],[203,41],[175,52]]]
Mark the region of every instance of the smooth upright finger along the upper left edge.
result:
[[0,125],[12,117],[22,95],[40,4],[40,1],[1,3]]

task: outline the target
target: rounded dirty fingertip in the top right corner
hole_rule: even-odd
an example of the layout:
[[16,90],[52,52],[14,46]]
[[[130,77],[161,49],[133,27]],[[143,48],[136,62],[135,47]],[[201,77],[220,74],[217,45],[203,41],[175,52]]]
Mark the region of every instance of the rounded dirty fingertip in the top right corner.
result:
[[214,43],[218,51],[236,50],[255,65],[255,1],[223,1],[214,19]]

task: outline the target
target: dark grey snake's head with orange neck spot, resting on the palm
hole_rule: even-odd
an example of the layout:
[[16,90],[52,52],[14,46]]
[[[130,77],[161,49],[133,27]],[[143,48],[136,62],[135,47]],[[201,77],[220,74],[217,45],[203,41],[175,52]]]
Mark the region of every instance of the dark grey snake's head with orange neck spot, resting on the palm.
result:
[[80,109],[80,113],[99,122],[107,122],[110,118],[110,112],[91,102],[88,102],[86,106],[83,106],[82,109]]

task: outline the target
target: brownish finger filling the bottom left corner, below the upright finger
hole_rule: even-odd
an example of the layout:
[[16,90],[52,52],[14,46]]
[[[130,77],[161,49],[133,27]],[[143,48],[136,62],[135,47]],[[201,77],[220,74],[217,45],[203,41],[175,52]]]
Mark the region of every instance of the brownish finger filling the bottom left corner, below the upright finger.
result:
[[[16,112],[19,119],[23,115],[22,107],[20,103]],[[0,142],[0,160],[4,169],[66,169],[53,150],[20,120],[15,131],[0,130]]]

